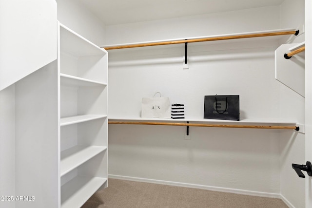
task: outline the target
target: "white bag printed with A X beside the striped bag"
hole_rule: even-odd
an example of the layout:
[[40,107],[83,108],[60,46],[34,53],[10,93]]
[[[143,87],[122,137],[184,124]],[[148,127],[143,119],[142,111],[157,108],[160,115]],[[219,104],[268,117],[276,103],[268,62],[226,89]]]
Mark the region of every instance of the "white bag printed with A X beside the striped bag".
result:
[[[156,94],[158,94],[157,92]],[[156,95],[155,94],[155,95]],[[143,97],[142,98],[142,118],[171,118],[171,104],[169,97]]]

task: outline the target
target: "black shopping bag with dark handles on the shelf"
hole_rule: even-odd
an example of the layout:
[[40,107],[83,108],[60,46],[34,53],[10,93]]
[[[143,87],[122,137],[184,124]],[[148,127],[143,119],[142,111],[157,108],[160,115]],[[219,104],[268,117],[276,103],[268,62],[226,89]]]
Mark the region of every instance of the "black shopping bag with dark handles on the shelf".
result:
[[239,95],[205,95],[204,118],[239,121]]

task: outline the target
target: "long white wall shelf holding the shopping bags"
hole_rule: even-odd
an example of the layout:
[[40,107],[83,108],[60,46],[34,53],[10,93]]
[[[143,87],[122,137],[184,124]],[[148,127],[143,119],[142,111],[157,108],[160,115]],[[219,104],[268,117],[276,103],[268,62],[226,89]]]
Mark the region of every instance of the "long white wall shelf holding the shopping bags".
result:
[[137,122],[194,122],[194,123],[207,123],[207,124],[232,124],[232,125],[295,125],[294,121],[285,121],[278,119],[242,119],[240,121],[232,120],[219,120],[219,119],[204,119],[198,117],[186,117],[184,119],[172,119],[172,118],[140,118],[140,117],[109,117],[109,121],[137,121]]

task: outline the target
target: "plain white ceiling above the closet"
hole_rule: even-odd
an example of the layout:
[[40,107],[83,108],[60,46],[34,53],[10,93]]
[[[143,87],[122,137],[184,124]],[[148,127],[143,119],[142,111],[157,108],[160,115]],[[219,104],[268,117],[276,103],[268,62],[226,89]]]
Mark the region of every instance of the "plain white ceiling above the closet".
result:
[[[78,0],[105,25],[280,5],[284,0]],[[265,14],[264,14],[265,15]]]

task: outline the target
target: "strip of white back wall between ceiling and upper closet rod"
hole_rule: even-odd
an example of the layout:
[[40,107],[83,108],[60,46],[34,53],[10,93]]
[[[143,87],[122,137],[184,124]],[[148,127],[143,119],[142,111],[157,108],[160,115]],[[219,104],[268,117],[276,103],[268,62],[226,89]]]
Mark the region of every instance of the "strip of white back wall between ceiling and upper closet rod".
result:
[[[265,14],[265,15],[264,15]],[[279,7],[262,7],[176,19],[109,25],[106,44],[210,36],[279,27]]]

